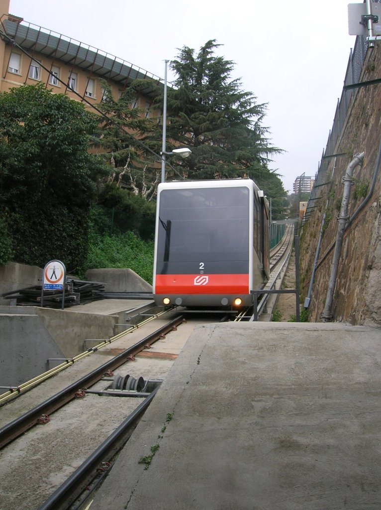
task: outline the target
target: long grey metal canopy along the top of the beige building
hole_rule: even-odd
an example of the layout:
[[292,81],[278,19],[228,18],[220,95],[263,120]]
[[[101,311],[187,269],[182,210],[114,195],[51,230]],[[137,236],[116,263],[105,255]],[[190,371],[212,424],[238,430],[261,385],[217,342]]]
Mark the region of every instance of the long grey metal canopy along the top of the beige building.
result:
[[[4,32],[29,52],[41,53],[123,86],[134,80],[147,78],[155,80],[157,85],[164,86],[161,84],[161,78],[145,69],[64,35],[24,21],[17,23],[6,19],[2,21],[2,24]],[[140,91],[148,96],[157,95],[148,83],[147,87],[143,87]]]

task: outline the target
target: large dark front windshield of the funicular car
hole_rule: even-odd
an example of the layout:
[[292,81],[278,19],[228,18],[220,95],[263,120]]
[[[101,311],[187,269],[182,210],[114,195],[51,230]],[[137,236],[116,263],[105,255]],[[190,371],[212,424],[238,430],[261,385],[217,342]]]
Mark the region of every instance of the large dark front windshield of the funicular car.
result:
[[158,264],[248,260],[247,187],[161,191]]

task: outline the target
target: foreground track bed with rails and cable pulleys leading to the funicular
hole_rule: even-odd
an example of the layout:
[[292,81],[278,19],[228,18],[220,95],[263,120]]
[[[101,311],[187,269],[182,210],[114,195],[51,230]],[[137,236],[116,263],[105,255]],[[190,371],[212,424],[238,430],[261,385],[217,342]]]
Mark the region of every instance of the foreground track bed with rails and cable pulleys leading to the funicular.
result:
[[[106,476],[190,331],[206,322],[205,317],[184,322],[173,311],[167,315],[169,320],[161,315],[96,351],[92,364],[95,356],[103,363],[57,394],[42,400],[49,383],[69,380],[70,372],[77,373],[80,366],[86,371],[91,358],[2,407],[4,420],[4,413],[12,415],[12,406],[17,405],[17,414],[22,400],[31,401],[35,395],[31,409],[0,429],[1,508],[80,507],[84,494],[88,497]],[[133,342],[134,335],[142,338]],[[125,348],[126,344],[132,345]]]

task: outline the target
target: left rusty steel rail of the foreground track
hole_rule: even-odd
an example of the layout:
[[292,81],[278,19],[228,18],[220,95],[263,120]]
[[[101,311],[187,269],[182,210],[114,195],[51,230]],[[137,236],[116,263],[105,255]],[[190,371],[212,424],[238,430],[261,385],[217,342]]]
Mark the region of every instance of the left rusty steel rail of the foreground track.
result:
[[67,402],[76,398],[76,393],[79,390],[83,390],[94,385],[98,380],[101,379],[102,375],[107,370],[115,370],[120,365],[123,365],[128,360],[129,356],[137,354],[143,350],[148,343],[155,342],[160,338],[161,335],[165,335],[174,327],[179,325],[182,321],[182,315],[175,317],[169,323],[156,329],[156,331],[145,337],[143,340],[135,343],[128,349],[124,350],[112,360],[104,363],[84,377],[81,377],[64,390],[60,391],[56,395],[53,395],[30,411],[24,413],[19,418],[16,418],[12,422],[2,427],[0,429],[0,449],[9,444],[14,439],[21,436],[21,434],[32,428],[34,425],[38,424],[39,418],[41,418],[42,415],[48,416],[49,414],[57,411]]

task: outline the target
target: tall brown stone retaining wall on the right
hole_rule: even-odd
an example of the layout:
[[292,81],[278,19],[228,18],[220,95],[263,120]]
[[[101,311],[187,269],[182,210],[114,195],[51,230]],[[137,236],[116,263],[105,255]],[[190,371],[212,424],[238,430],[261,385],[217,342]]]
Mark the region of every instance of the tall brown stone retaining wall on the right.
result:
[[[368,49],[360,82],[381,76],[381,43]],[[381,84],[361,87],[352,100],[345,119],[344,129],[335,147],[334,157],[326,171],[320,188],[318,207],[304,227],[301,235],[302,295],[307,295],[314,264],[323,213],[324,224],[320,254],[309,305],[311,321],[319,322],[324,309],[328,280],[332,268],[338,230],[337,216],[343,194],[342,178],[358,152],[365,152],[362,167],[353,173],[348,215],[359,208],[370,190],[376,171],[378,146],[381,141]],[[351,324],[381,325],[381,170],[374,191],[365,207],[348,226],[344,234],[338,277],[332,307],[333,320]]]

